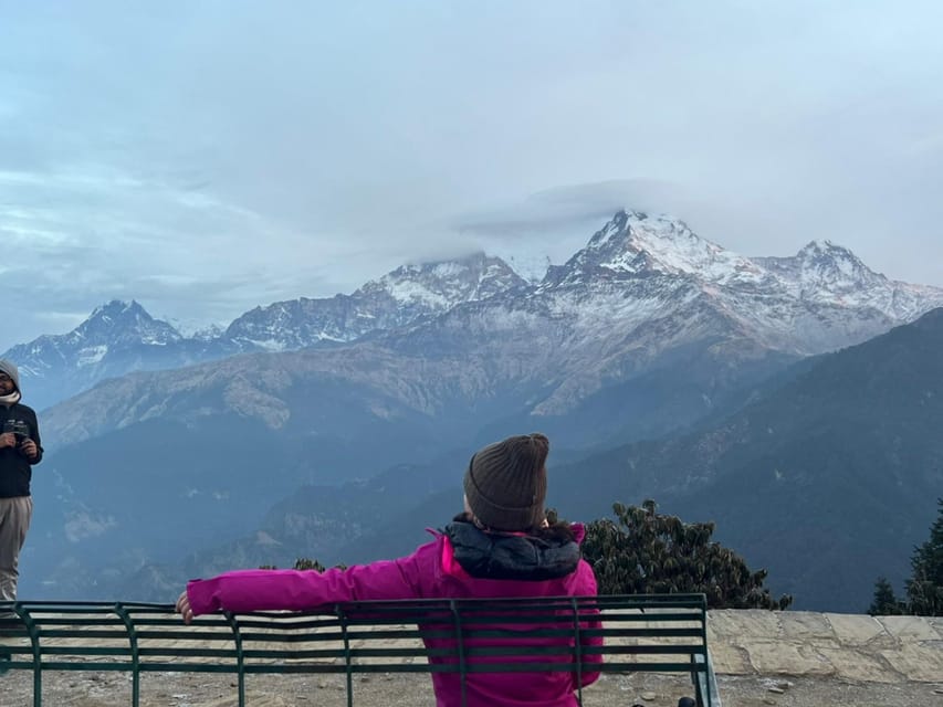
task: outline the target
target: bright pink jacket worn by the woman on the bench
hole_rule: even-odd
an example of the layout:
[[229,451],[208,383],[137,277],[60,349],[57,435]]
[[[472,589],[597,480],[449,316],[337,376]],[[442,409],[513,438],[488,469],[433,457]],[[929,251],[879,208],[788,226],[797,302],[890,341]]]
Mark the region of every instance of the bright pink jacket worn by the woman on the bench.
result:
[[[577,542],[584,529],[574,525]],[[580,597],[596,594],[596,578],[585,560],[564,577],[541,581],[481,579],[469,574],[453,556],[449,538],[436,539],[404,558],[354,566],[324,573],[296,570],[241,570],[192,580],[187,595],[195,614],[221,609],[232,612],[308,611],[324,604],[377,599],[463,599],[510,597]],[[587,645],[601,643],[588,639]],[[430,647],[431,646],[430,644]],[[436,646],[438,647],[438,646]],[[595,656],[601,662],[601,656]],[[589,685],[599,673],[584,673]],[[461,705],[461,676],[433,673],[439,707]],[[467,676],[469,707],[576,707],[575,673],[472,673]]]

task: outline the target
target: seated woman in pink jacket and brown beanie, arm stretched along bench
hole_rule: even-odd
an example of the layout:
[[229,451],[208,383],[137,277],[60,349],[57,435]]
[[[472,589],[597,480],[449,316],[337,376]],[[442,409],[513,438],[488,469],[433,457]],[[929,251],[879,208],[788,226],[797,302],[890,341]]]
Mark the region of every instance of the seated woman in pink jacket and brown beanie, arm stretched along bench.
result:
[[[243,570],[192,580],[177,610],[190,623],[223,609],[311,611],[375,599],[595,595],[593,569],[580,558],[583,526],[546,521],[548,450],[543,434],[527,434],[472,455],[464,476],[465,511],[408,557],[324,573]],[[587,640],[594,643],[599,640]],[[583,686],[598,676],[583,673]],[[460,680],[454,673],[432,674],[440,707],[461,704]],[[465,680],[469,707],[577,705],[575,673],[471,673]]]

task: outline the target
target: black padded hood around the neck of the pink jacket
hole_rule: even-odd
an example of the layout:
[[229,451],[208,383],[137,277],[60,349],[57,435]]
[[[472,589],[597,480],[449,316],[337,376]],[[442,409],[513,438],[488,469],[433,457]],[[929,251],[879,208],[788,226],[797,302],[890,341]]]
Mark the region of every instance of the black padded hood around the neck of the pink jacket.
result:
[[537,582],[566,577],[579,564],[579,546],[572,534],[485,532],[459,520],[446,526],[443,532],[462,569],[479,579]]

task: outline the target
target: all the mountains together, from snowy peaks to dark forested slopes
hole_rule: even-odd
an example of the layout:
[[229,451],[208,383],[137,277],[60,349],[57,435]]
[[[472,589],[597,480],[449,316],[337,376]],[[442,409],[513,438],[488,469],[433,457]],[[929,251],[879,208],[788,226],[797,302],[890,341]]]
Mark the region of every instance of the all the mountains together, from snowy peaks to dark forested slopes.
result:
[[797,606],[860,610],[933,511],[900,509],[943,479],[941,306],[830,242],[747,258],[633,211],[537,282],[474,254],[201,338],[112,302],[4,354],[27,390],[80,391],[42,414],[23,591],[168,599],[227,567],[408,552],[476,446],[542,430],[563,513],[656,498]]

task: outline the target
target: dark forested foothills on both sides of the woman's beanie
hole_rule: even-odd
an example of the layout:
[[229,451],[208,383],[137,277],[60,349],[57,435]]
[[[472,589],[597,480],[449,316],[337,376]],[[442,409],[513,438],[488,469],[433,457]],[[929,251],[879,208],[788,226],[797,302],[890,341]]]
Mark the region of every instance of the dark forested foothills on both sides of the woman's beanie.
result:
[[[567,518],[611,517],[656,499],[768,570],[795,609],[861,612],[874,581],[897,587],[943,488],[943,308],[836,354],[805,359],[732,415],[700,429],[577,458],[554,451],[548,504]],[[164,567],[188,577],[298,558],[327,566],[410,552],[458,510],[452,453],[367,481],[303,486],[242,537]],[[448,473],[443,473],[447,469]],[[209,568],[209,570],[205,569]],[[130,579],[125,592],[142,592]]]

